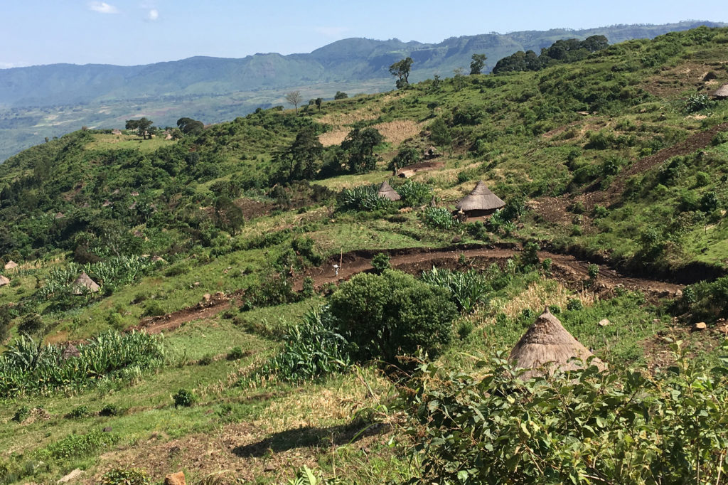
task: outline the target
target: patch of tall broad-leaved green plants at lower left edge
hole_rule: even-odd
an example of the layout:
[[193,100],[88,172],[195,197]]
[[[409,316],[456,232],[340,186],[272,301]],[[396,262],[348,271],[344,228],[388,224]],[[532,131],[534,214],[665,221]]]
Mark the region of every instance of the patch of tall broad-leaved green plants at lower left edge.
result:
[[0,355],[0,397],[89,387],[99,379],[128,378],[161,365],[160,336],[109,331],[79,344],[79,356],[63,358],[63,347],[21,336]]

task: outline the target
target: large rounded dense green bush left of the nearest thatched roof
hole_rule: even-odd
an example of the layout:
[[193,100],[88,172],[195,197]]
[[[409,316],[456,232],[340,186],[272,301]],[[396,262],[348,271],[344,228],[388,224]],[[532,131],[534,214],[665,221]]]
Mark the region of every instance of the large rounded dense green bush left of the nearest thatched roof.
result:
[[351,344],[359,360],[413,354],[435,355],[451,339],[456,307],[448,291],[388,269],[360,273],[331,296],[333,328]]

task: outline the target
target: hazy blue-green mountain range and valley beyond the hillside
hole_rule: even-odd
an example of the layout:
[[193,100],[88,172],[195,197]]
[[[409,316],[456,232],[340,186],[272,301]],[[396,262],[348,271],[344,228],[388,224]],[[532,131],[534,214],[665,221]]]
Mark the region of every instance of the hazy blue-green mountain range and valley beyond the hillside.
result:
[[[0,160],[38,143],[38,137],[59,135],[81,125],[123,126],[124,117],[141,116],[149,111],[149,103],[154,106],[151,115],[157,125],[173,125],[179,117],[193,115],[205,122],[218,122],[257,106],[280,103],[285,90],[300,89],[306,97],[331,98],[336,87],[355,87],[355,92],[393,89],[388,68],[406,56],[414,60],[410,80],[416,82],[434,74],[451,76],[458,67],[467,72],[474,53],[487,55],[489,71],[500,58],[518,50],[539,52],[558,39],[604,35],[614,44],[699,25],[728,24],[689,20],[665,25],[485,33],[453,37],[438,44],[344,39],[309,54],[194,57],[146,66],[51,64],[0,69]],[[223,99],[226,97],[230,103]],[[208,98],[215,98],[215,102],[207,103]],[[194,113],[172,109],[180,100],[197,100]],[[234,111],[229,104],[235,106]]]

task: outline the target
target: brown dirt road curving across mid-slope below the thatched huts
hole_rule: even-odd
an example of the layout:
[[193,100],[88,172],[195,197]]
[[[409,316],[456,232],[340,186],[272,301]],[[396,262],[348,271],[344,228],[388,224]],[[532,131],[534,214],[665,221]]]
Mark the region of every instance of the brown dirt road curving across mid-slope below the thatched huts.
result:
[[[371,256],[374,252],[367,254],[364,251],[344,254],[343,264],[336,275],[333,264],[339,264],[339,258],[333,258],[330,264],[325,267],[309,269],[304,275],[296,278],[293,287],[300,290],[303,286],[303,279],[310,276],[314,280],[314,287],[321,288],[330,283],[340,283],[349,280],[350,277],[360,272],[372,269]],[[520,251],[509,248],[470,248],[470,249],[420,249],[411,248],[393,251],[390,255],[389,264],[395,268],[411,274],[418,274],[432,268],[467,269],[475,267],[483,269],[491,263],[504,263],[505,260],[513,258]],[[462,259],[465,264],[461,264]],[[572,288],[581,288],[585,280],[589,278],[589,264],[587,261],[580,261],[574,256],[548,253],[539,251],[539,259],[550,258],[552,261],[552,272],[561,283]],[[596,285],[591,287],[598,293],[610,292],[617,287],[632,290],[644,291],[648,296],[668,297],[680,294],[682,286],[667,283],[659,280],[646,280],[637,277],[626,277],[619,272],[609,269],[604,265],[598,265],[599,275]]]

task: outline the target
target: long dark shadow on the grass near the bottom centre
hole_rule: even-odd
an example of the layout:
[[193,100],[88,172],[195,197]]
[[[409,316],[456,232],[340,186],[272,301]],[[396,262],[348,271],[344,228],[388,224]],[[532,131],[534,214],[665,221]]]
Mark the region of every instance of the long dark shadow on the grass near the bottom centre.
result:
[[340,446],[355,443],[366,436],[377,435],[389,430],[390,426],[381,422],[355,421],[347,425],[331,427],[299,427],[274,433],[256,443],[235,447],[232,452],[241,458],[263,457],[270,451],[279,453],[294,448],[313,446]]

